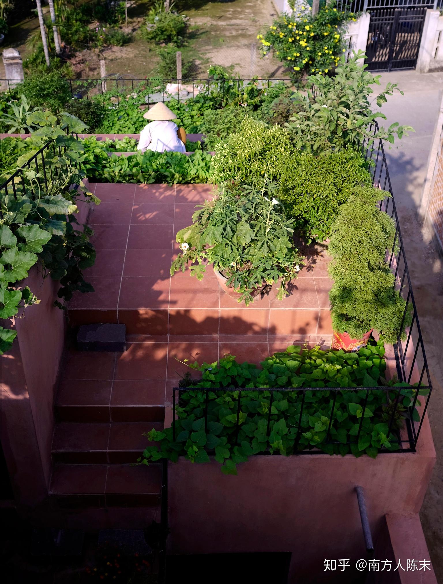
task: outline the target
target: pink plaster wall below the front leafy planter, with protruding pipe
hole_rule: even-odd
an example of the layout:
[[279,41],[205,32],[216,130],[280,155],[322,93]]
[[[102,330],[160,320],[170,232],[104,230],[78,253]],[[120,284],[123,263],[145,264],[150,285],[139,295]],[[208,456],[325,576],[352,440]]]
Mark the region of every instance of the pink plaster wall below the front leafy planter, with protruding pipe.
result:
[[343,582],[343,573],[325,575],[324,559],[367,558],[355,486],[365,490],[375,538],[387,513],[417,513],[435,463],[427,419],[420,443],[417,453],[375,460],[256,456],[238,465],[237,477],[215,461],[171,463],[170,552],[290,551],[289,582]]

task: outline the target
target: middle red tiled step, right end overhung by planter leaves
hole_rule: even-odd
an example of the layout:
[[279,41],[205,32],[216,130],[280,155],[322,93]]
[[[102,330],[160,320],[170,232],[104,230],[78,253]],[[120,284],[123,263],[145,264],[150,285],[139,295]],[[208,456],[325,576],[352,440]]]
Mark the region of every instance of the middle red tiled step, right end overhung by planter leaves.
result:
[[161,422],[58,422],[52,461],[66,464],[131,464],[151,444],[143,433],[163,429]]

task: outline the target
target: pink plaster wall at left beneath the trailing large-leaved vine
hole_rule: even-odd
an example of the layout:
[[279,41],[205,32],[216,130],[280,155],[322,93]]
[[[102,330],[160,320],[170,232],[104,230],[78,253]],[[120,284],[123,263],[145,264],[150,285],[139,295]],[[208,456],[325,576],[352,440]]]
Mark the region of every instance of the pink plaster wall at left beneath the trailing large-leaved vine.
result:
[[[89,204],[79,204],[86,223]],[[17,337],[0,357],[0,436],[16,500],[34,505],[47,494],[51,477],[54,387],[64,350],[66,315],[54,306],[59,283],[33,266],[26,281],[39,304],[13,319]],[[10,328],[10,322],[3,323]]]

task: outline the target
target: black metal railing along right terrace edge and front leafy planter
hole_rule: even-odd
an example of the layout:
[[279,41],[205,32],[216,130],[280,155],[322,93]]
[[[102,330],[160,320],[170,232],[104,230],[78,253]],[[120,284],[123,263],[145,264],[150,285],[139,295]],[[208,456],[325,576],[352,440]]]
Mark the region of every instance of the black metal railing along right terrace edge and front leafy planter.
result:
[[[378,132],[378,124],[375,122],[371,126],[372,135],[375,136]],[[311,392],[321,392],[321,391],[332,391],[332,405],[331,413],[328,420],[328,430],[326,434],[326,444],[342,444],[335,440],[331,440],[331,428],[334,421],[334,413],[336,406],[336,398],[339,392],[351,391],[360,392],[360,397],[363,400],[362,404],[362,414],[358,427],[357,436],[348,436],[347,444],[358,443],[360,438],[361,430],[363,427],[364,413],[368,407],[368,402],[370,402],[371,394],[375,395],[384,392],[386,397],[391,396],[391,404],[387,411],[389,412],[389,417],[386,420],[388,424],[388,434],[391,433],[395,436],[391,439],[391,443],[396,443],[402,452],[413,452],[416,450],[417,442],[419,440],[419,435],[421,427],[423,425],[423,419],[426,414],[429,400],[432,393],[431,377],[428,370],[428,364],[426,360],[426,353],[424,350],[423,336],[421,335],[419,317],[417,314],[416,301],[414,298],[414,293],[412,290],[412,283],[410,279],[409,269],[406,262],[405,246],[403,244],[402,231],[400,229],[398,213],[396,210],[395,200],[392,193],[391,179],[389,178],[388,166],[386,164],[385,151],[382,141],[379,139],[369,139],[363,144],[363,152],[366,161],[370,164],[370,172],[374,186],[386,191],[386,195],[381,198],[380,208],[388,213],[392,220],[395,222],[395,236],[392,249],[388,250],[386,253],[386,261],[389,263],[389,267],[393,270],[395,274],[395,286],[398,294],[403,296],[406,300],[405,312],[403,314],[402,329],[405,328],[404,324],[408,314],[412,314],[412,320],[410,326],[406,329],[406,338],[404,333],[399,333],[396,343],[393,345],[393,357],[395,358],[395,369],[399,381],[404,381],[406,383],[414,384],[417,383],[417,390],[414,391],[412,404],[405,406],[403,404],[403,391],[405,387],[392,387],[392,386],[379,386],[379,387],[359,387],[359,388],[319,388],[319,387],[306,387],[306,388],[289,388],[289,387],[278,387],[278,388],[239,388],[239,389],[215,389],[215,388],[198,388],[191,391],[201,391],[204,397],[203,406],[203,417],[205,418],[205,429],[208,424],[208,412],[210,411],[210,404],[212,400],[215,400],[220,395],[226,394],[227,392],[233,395],[234,399],[237,400],[237,423],[232,429],[231,438],[234,440],[234,446],[237,444],[238,433],[241,429],[241,424],[239,422],[240,412],[241,412],[241,398],[246,392],[259,391],[262,392],[262,401],[268,404],[268,424],[266,433],[269,436],[270,423],[271,423],[271,410],[273,396],[276,392],[292,392],[291,398],[293,399],[293,404],[300,404],[300,411],[297,413],[298,423],[297,423],[297,440],[300,439],[302,431],[305,430],[301,427],[301,419],[303,416],[303,410],[305,407],[305,397],[308,391]],[[403,340],[402,340],[403,336]],[[416,419],[414,415],[414,410],[417,405],[417,399],[419,398],[419,390],[425,395],[426,401],[424,402],[423,410],[421,411],[420,420]],[[175,407],[177,404],[180,405],[181,398],[184,392],[190,391],[188,388],[174,388],[173,389],[173,439],[175,439]],[[269,392],[269,394],[265,394]],[[209,397],[212,394],[212,397]],[[426,395],[427,394],[427,395]],[[268,396],[269,397],[265,397]],[[283,414],[280,414],[283,415]],[[404,424],[403,429],[398,429],[398,420],[402,419]],[[391,450],[382,449],[381,452],[387,453]],[[295,452],[296,454],[314,454],[321,453],[321,450],[304,449]]]

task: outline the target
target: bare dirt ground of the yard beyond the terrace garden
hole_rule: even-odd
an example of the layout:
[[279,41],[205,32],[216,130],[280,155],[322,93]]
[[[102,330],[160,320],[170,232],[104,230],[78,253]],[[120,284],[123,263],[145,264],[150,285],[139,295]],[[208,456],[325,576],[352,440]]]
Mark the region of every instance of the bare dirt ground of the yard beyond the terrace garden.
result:
[[[106,56],[106,71],[126,78],[144,79],[157,74],[155,50],[140,38],[139,29],[152,6],[152,0],[133,0],[128,9],[128,27],[133,41],[124,47],[111,47]],[[272,57],[261,58],[256,36],[276,16],[272,0],[179,0],[177,8],[189,16],[189,40],[183,47],[183,59],[192,60],[193,77],[206,78],[211,64],[230,68],[238,77],[285,77],[283,68]],[[48,10],[46,6],[44,11]],[[3,48],[14,47],[22,58],[29,57],[26,41],[38,32],[38,19],[27,19],[15,25]],[[96,51],[85,50],[73,60],[76,77],[100,77]],[[0,78],[4,77],[0,62]]]

